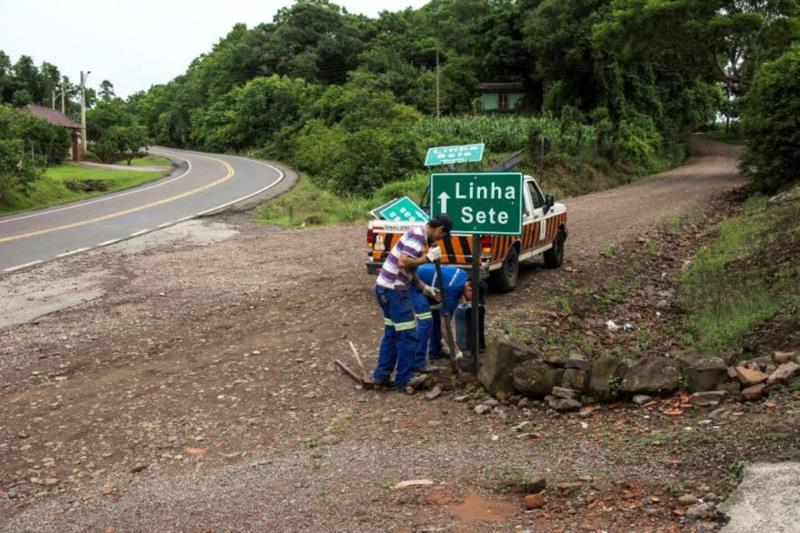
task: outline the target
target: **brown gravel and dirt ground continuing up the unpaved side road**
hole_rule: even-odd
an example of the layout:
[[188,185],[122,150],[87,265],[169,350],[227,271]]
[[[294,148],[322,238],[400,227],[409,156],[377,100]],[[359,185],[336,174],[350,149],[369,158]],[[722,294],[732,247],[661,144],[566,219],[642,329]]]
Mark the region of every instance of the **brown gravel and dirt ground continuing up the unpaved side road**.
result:
[[[568,265],[591,269],[608,245],[743,183],[724,145],[694,153],[568,199]],[[527,512],[494,490],[520,473],[659,494],[674,475],[665,457],[631,462],[598,438],[625,424],[616,410],[587,421],[533,410],[552,438],[518,439],[502,410],[480,417],[450,393],[356,390],[333,361],[349,360],[349,340],[374,363],[381,317],[364,245],[362,225],[227,215],[0,278],[13,306],[73,305],[0,331],[0,529],[681,529],[658,510],[586,502]],[[529,268],[522,289],[565,275]],[[535,297],[515,294],[492,296],[490,313]],[[391,489],[411,479],[433,485]]]

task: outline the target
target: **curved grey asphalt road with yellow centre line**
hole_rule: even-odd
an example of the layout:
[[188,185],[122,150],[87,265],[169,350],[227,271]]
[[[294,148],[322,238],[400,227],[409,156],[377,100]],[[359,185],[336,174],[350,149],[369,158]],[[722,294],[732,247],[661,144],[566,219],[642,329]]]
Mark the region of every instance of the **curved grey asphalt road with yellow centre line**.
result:
[[107,246],[224,209],[284,179],[277,167],[243,157],[152,147],[178,173],[84,202],[0,218],[0,273]]

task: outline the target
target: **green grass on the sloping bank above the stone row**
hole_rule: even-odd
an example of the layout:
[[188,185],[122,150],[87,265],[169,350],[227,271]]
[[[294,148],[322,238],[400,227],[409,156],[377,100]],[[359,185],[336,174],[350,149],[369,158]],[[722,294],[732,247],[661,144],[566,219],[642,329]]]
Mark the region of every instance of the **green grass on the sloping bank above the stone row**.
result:
[[679,276],[679,298],[688,310],[688,340],[720,354],[765,322],[794,320],[800,302],[800,195],[777,205],[750,198],[742,213],[719,225],[719,236],[701,248]]

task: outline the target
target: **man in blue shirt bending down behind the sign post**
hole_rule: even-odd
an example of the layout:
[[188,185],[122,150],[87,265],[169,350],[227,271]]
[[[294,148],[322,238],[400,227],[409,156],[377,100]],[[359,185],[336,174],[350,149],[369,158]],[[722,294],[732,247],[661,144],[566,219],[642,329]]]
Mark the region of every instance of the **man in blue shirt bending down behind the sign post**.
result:
[[417,319],[417,350],[414,355],[414,369],[417,372],[433,370],[429,359],[447,358],[449,353],[442,347],[442,328],[444,327],[441,307],[447,305],[450,316],[463,296],[467,301],[472,298],[472,286],[467,273],[460,268],[441,265],[444,279],[444,295],[438,294],[439,280],[436,265],[425,264],[417,268],[417,277],[423,286],[437,289],[436,297],[426,296],[416,286],[411,287],[411,302]]

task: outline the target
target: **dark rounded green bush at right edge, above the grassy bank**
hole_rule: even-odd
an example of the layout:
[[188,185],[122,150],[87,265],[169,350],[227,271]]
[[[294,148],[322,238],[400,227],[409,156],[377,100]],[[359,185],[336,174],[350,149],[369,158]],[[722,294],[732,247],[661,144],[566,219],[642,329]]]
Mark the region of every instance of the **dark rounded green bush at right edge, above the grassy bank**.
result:
[[742,168],[757,189],[772,192],[800,178],[800,45],[759,70],[742,130]]

